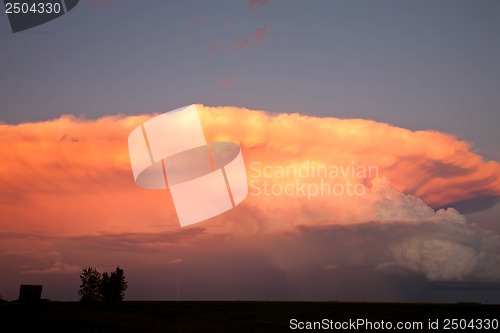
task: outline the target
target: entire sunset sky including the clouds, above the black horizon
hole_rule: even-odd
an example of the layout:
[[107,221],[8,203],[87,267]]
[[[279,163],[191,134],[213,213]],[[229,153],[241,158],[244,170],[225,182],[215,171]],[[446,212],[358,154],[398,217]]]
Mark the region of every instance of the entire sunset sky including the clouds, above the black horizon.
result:
[[[126,299],[498,303],[499,18],[489,0],[82,0],[18,33],[0,15],[0,295],[77,300],[84,267],[120,265]],[[127,137],[191,104],[241,147],[249,194],[181,228]]]

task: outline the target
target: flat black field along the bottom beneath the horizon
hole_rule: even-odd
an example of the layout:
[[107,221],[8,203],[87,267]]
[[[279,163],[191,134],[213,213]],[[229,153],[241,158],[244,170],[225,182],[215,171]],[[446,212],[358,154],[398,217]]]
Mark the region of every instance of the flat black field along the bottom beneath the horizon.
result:
[[[422,322],[422,329],[394,332],[443,331],[445,319],[467,319],[475,329],[479,319],[500,320],[500,305],[424,303],[338,302],[122,302],[82,304],[49,302],[0,304],[1,332],[293,332],[290,320],[336,322],[365,319]],[[428,330],[429,319],[439,320],[439,329]],[[462,321],[462,325],[465,321]],[[483,321],[484,325],[485,322]],[[494,324],[494,322],[492,322]],[[459,324],[460,325],[460,324]],[[352,328],[352,327],[351,327]],[[322,331],[322,330],[318,330]],[[324,331],[336,331],[325,329]],[[361,326],[350,332],[370,330]],[[497,331],[490,329],[490,332]]]

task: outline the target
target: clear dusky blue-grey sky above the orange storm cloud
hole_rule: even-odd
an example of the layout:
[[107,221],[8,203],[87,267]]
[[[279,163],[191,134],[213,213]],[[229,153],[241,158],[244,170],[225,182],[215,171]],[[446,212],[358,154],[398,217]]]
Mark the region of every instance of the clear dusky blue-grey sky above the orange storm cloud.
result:
[[498,159],[499,18],[489,0],[89,0],[13,34],[0,15],[0,119],[236,105],[445,131]]

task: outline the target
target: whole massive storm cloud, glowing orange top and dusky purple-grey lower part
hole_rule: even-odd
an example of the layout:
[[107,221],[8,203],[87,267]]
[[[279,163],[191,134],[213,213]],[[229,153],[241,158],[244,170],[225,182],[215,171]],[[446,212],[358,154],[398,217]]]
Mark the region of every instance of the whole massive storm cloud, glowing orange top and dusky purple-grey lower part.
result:
[[[168,191],[133,181],[127,137],[154,115],[0,125],[0,262],[24,262],[19,274],[48,276],[89,265],[90,257],[109,270],[121,264],[117,253],[127,253],[136,263],[205,274],[199,256],[229,251],[214,265],[251,256],[279,276],[369,265],[438,281],[500,279],[499,236],[467,224],[453,208],[431,208],[500,196],[499,163],[484,161],[469,143],[361,119],[198,110],[207,141],[241,146],[250,193],[231,211],[186,229]],[[345,172],[363,166],[376,173]],[[329,173],[280,174],[314,167]],[[365,192],[263,193],[264,181],[279,189],[297,179],[316,188],[351,182]]]

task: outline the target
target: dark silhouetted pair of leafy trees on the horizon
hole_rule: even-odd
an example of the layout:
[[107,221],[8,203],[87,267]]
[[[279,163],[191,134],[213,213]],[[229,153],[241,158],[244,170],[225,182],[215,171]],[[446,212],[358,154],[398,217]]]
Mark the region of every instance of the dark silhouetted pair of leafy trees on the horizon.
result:
[[128,287],[123,269],[119,266],[111,274],[101,274],[92,267],[84,268],[80,280],[78,294],[82,302],[120,302]]

